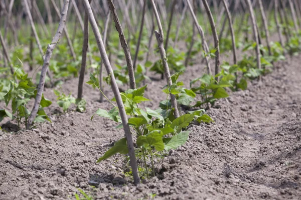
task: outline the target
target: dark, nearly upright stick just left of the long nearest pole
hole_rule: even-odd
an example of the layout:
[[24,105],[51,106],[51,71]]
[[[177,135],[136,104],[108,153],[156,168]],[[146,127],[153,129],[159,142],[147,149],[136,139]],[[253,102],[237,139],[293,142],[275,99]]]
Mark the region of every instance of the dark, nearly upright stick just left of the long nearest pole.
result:
[[[91,0],[89,0],[89,3],[90,2],[91,2]],[[73,2],[73,4],[74,3],[75,2]],[[78,90],[77,90],[77,98],[79,98],[79,99],[81,99],[83,97],[83,83],[84,83],[85,70],[86,70],[88,41],[89,41],[89,19],[88,19],[87,13],[85,13],[82,62],[81,62],[81,67],[80,67],[80,71],[79,71]]]

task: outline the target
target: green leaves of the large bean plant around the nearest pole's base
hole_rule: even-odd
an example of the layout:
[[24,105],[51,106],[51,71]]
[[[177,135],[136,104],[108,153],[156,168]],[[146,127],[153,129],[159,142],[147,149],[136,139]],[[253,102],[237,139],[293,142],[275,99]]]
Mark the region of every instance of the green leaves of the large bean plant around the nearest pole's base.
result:
[[[178,77],[179,74],[176,76]],[[176,76],[173,76],[173,78],[176,78]],[[175,91],[175,93],[177,93],[176,91],[183,92],[182,89],[174,88],[173,86],[168,87],[168,89]],[[141,160],[143,160],[145,170],[141,170],[144,173],[142,176],[146,175],[148,177],[150,170],[147,163],[152,163],[152,171],[155,175],[154,156],[159,156],[161,152],[176,149],[183,145],[187,141],[189,134],[189,131],[185,129],[191,121],[196,119],[210,122],[212,119],[203,113],[204,110],[183,114],[175,118],[174,108],[171,108],[168,100],[162,101],[160,107],[156,110],[147,107],[145,110],[139,108],[139,103],[149,101],[143,96],[145,88],[146,85],[138,89],[128,89],[120,94],[125,111],[130,116],[128,124],[132,128],[132,134],[136,136],[136,156],[141,157]],[[164,89],[166,93],[168,89]],[[114,100],[113,98],[112,101]],[[119,123],[117,127],[122,127],[119,110],[116,106],[110,111],[99,108],[95,114],[114,120]],[[91,119],[93,119],[94,115]],[[107,150],[97,162],[107,159],[116,153],[128,153],[125,138],[115,142],[114,146]]]

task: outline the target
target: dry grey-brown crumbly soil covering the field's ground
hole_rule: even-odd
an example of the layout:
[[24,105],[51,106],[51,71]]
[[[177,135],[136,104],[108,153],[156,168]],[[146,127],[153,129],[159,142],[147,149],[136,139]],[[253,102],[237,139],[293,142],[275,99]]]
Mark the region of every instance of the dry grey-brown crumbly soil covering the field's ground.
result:
[[[46,110],[52,123],[0,132],[0,199],[75,199],[77,188],[95,199],[301,199],[300,59],[276,63],[261,83],[218,101],[208,111],[215,122],[191,124],[188,142],[157,161],[157,176],[138,186],[124,175],[123,156],[96,164],[123,131],[102,117],[91,121],[97,108],[111,105],[85,84],[86,112],[62,113],[53,103]],[[188,67],[181,79],[188,86],[200,74]],[[76,94],[77,81],[66,81],[63,91]],[[166,98],[158,89],[165,84],[148,83],[145,97],[153,101],[145,106]],[[108,87],[106,93],[112,97]],[[52,89],[44,94],[55,102]],[[1,125],[16,130],[7,119]]]

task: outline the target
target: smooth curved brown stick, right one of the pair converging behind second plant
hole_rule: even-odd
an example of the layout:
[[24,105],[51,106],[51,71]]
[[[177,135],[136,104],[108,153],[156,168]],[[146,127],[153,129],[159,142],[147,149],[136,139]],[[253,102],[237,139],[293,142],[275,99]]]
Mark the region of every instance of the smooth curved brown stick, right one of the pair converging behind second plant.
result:
[[[215,48],[215,75],[217,75],[219,73],[219,65],[220,65],[220,49],[219,49],[219,40],[218,40],[218,35],[217,35],[217,31],[216,31],[216,27],[215,27],[215,22],[212,16],[212,13],[210,11],[210,7],[208,5],[207,0],[202,0],[203,4],[205,6],[208,18],[209,18],[209,22],[211,25],[211,29],[212,29],[212,34],[213,34],[213,39],[214,39],[214,48]],[[218,77],[215,77],[216,80],[218,80]]]

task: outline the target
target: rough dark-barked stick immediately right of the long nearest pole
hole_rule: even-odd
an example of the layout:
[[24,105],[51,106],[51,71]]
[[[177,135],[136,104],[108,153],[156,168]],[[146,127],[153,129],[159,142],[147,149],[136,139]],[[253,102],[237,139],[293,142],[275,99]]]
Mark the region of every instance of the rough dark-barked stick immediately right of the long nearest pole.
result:
[[135,82],[135,74],[134,74],[134,68],[133,68],[133,63],[132,63],[132,59],[131,59],[131,55],[130,55],[130,51],[123,33],[123,29],[121,27],[119,18],[117,16],[117,11],[116,8],[113,4],[112,0],[107,0],[108,5],[109,5],[109,9],[112,13],[113,16],[113,20],[115,22],[115,27],[119,33],[119,38],[120,38],[120,43],[121,46],[123,48],[123,52],[125,55],[125,60],[126,60],[126,65],[127,65],[127,70],[128,70],[128,76],[129,76],[129,86],[131,89],[135,89],[136,88],[136,82]]

